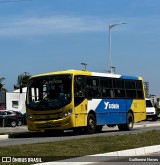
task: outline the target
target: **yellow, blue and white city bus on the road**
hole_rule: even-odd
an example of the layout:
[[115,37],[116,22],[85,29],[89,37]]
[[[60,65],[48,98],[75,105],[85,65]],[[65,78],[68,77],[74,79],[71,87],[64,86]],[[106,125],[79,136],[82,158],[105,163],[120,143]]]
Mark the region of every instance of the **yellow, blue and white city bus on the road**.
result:
[[32,76],[26,94],[31,131],[85,130],[104,125],[132,130],[146,119],[142,77],[82,70]]

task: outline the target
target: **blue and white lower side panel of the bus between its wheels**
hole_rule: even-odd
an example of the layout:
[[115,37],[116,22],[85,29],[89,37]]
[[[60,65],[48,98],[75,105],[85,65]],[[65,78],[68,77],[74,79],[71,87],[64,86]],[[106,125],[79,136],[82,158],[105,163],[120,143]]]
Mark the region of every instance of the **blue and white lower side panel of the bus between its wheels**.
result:
[[95,99],[89,104],[96,106],[92,110],[95,110],[97,125],[109,125],[126,123],[126,112],[132,101],[126,105],[125,99]]

